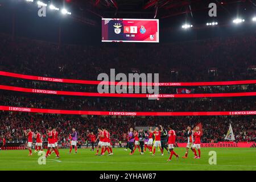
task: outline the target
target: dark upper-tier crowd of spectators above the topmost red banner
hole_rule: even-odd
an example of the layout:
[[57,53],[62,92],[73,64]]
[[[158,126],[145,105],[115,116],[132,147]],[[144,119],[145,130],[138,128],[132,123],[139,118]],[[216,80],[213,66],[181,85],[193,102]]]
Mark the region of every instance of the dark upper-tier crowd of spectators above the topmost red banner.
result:
[[255,32],[170,44],[71,46],[0,35],[0,69],[97,80],[99,73],[159,73],[160,82],[255,78]]

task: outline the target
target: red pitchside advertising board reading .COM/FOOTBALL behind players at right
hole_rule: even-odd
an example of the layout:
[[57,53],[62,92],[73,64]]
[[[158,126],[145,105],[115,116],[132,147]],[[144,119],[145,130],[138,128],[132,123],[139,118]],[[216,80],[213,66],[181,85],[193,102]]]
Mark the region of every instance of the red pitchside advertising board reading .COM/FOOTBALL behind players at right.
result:
[[[217,148],[246,148],[246,147],[256,147],[255,142],[249,142],[249,143],[243,143],[243,142],[238,142],[238,143],[230,143],[230,142],[220,142],[220,143],[201,143],[201,147],[217,147]],[[177,147],[187,147],[187,143],[177,143]]]

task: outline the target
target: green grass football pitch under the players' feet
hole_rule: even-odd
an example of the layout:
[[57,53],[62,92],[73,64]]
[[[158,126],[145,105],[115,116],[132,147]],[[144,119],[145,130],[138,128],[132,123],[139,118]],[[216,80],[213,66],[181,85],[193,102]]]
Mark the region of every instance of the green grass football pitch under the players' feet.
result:
[[[28,156],[28,150],[2,150],[0,151],[0,170],[254,170],[256,171],[256,148],[201,148],[201,159],[193,159],[189,151],[188,158],[182,159],[185,148],[175,148],[180,155],[167,162],[169,155],[164,156],[156,149],[156,155],[151,156],[147,151],[140,155],[135,151],[129,155],[129,150],[114,148],[114,155],[96,156],[95,151],[79,149],[77,154],[68,154],[68,149],[60,150],[60,159],[55,154],[46,159],[46,164],[39,164],[40,156],[33,152]],[[209,164],[209,151],[216,151],[217,164]],[[73,152],[73,151],[72,151]],[[40,160],[39,161],[43,161]]]

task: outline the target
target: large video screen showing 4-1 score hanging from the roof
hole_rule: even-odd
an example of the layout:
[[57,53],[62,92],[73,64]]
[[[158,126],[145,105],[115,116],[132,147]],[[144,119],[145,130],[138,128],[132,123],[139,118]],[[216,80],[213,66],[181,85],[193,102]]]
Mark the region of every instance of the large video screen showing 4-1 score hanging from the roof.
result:
[[158,19],[102,18],[102,42],[159,42]]

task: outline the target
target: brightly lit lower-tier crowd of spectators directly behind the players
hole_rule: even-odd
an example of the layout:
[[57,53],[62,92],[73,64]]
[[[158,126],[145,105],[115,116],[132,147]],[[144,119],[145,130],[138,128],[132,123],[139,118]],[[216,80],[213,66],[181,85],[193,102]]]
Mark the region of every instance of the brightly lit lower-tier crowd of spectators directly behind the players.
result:
[[59,132],[59,141],[66,140],[74,127],[79,133],[79,140],[90,140],[88,134],[97,129],[107,127],[111,134],[112,143],[125,142],[130,127],[159,126],[167,128],[171,125],[176,131],[177,142],[187,142],[184,136],[185,128],[189,125],[195,127],[197,123],[203,125],[201,142],[216,143],[224,141],[232,124],[236,142],[256,142],[256,119],[251,116],[216,116],[216,117],[81,117],[55,114],[31,114],[0,112],[0,136],[6,140],[26,140],[23,130],[28,128],[39,131],[43,135],[49,126],[55,127]]

